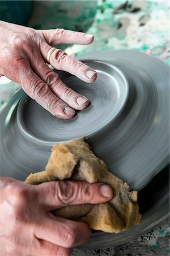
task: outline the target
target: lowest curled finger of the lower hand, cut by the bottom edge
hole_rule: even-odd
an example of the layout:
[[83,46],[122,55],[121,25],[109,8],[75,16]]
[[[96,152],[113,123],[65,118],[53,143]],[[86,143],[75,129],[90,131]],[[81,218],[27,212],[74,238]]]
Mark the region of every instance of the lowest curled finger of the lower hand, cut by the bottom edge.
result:
[[35,238],[37,241],[37,246],[32,249],[35,253],[32,255],[53,255],[53,256],[70,256],[73,249],[64,248],[58,245],[54,245],[54,243],[50,243],[44,240],[39,240]]

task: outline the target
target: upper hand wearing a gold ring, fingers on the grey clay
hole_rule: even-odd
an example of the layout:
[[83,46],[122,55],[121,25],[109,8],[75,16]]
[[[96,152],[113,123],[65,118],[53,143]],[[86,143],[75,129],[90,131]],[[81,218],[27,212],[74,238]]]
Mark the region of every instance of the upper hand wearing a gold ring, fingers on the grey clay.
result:
[[[33,100],[58,118],[72,118],[75,110],[87,107],[87,98],[63,84],[45,62],[52,46],[60,43],[90,44],[94,40],[92,35],[59,28],[34,30],[2,21],[0,26],[0,76],[18,82]],[[93,82],[97,77],[94,69],[61,49],[52,52],[50,64],[85,82]]]

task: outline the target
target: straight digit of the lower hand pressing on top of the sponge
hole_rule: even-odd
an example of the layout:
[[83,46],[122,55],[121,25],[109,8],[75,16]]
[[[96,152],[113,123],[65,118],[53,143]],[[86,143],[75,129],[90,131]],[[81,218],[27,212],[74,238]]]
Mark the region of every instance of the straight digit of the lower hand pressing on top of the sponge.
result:
[[50,181],[36,186],[40,204],[57,209],[68,204],[99,204],[112,199],[111,187],[84,181]]

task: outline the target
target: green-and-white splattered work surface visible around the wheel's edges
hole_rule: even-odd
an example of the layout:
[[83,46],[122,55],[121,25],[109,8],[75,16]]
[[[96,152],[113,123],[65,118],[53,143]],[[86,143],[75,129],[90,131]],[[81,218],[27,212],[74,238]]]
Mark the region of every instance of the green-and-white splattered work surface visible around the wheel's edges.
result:
[[[88,5],[87,5],[88,2]],[[95,35],[91,46],[62,46],[70,55],[105,49],[136,49],[169,63],[168,1],[35,1],[29,26],[64,27]],[[37,12],[38,10],[38,12]],[[49,19],[50,17],[50,19]],[[19,88],[1,79],[1,105]],[[156,214],[156,213],[155,213]],[[147,234],[116,248],[78,251],[73,255],[168,255],[168,220]]]

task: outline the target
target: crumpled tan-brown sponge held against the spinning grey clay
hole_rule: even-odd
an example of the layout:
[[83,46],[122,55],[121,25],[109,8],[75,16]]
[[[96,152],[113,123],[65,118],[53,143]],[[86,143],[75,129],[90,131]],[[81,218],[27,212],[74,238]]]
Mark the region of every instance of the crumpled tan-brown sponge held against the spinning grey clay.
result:
[[65,179],[106,183],[112,187],[114,196],[109,203],[57,209],[53,212],[56,216],[81,220],[94,230],[108,233],[119,233],[139,224],[137,191],[130,191],[127,183],[109,172],[106,164],[93,154],[85,137],[55,144],[45,171],[29,175],[25,183]]

